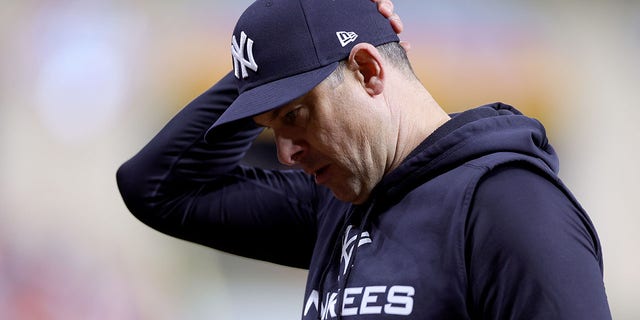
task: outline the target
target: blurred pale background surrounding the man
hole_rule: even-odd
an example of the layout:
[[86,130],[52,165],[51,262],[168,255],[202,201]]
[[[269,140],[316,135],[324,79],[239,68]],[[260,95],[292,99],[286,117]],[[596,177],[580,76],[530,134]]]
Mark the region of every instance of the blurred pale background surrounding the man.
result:
[[[115,183],[231,70],[231,31],[250,3],[3,1],[0,319],[300,317],[303,270],[160,234]],[[640,1],[395,4],[445,109],[502,101],[543,121],[600,234],[614,319],[638,319]]]

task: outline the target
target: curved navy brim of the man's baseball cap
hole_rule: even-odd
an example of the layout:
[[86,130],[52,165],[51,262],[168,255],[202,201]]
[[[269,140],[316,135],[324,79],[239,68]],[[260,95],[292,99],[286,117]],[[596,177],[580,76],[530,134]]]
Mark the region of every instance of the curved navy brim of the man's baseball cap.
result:
[[216,128],[273,110],[305,95],[326,79],[337,67],[338,62],[334,62],[241,93],[207,130],[205,140],[209,140],[208,137],[215,133]]

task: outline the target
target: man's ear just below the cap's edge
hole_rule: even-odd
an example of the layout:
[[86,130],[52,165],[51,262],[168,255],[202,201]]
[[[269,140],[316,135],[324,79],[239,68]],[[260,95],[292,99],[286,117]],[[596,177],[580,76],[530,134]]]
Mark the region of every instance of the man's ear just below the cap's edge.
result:
[[358,43],[351,49],[349,69],[356,71],[365,90],[372,96],[384,91],[385,73],[382,57],[373,45]]

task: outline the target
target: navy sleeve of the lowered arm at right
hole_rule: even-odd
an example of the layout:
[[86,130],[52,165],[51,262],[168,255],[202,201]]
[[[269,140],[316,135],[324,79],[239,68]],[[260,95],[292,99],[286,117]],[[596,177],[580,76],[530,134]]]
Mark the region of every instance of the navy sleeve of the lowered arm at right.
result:
[[467,224],[474,319],[611,319],[591,222],[554,183],[496,170],[479,185]]

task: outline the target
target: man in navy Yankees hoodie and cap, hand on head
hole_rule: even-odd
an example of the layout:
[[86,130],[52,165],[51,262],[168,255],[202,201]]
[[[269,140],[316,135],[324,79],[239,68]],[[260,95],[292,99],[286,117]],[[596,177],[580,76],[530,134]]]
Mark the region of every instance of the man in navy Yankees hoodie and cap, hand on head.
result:
[[[501,103],[447,115],[374,4],[256,1],[232,57],[118,171],[142,222],[308,269],[303,319],[610,319],[542,125]],[[295,169],[239,165],[261,127]]]

